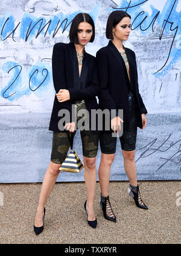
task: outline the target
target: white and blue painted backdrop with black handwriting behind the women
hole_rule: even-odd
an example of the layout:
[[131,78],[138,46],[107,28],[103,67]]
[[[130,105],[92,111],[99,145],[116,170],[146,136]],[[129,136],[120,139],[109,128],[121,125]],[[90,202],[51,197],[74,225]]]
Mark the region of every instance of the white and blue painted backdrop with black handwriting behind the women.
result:
[[[2,0],[0,8],[0,182],[41,182],[48,167],[54,100],[52,47],[69,42],[72,19],[89,13],[95,22],[95,56],[107,45],[106,21],[113,10],[132,16],[124,45],[136,53],[139,91],[148,125],[138,130],[139,180],[180,179],[181,173],[181,1],[180,0]],[[81,156],[77,132],[74,148]],[[127,180],[119,143],[112,180]],[[97,157],[97,167],[100,152]],[[83,181],[61,173],[57,181]]]

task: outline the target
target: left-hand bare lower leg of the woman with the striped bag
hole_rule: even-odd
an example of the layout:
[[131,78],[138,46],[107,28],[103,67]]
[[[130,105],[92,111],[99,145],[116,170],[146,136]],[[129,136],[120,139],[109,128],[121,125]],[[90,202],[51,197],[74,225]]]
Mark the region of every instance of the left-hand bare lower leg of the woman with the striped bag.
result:
[[43,225],[43,210],[46,203],[46,200],[49,197],[49,194],[54,187],[57,177],[59,176],[59,168],[60,164],[54,164],[54,162],[50,161],[48,169],[46,170],[45,176],[43,178],[42,189],[39,197],[39,205],[37,206],[37,213],[35,217],[34,225],[39,227]]

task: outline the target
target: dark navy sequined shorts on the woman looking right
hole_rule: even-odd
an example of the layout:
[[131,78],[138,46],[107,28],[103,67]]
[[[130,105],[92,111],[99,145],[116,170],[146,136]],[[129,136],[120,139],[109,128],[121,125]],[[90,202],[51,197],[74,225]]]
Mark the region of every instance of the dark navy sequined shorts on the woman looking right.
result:
[[[121,149],[125,151],[135,150],[138,115],[136,111],[137,105],[135,96],[132,92],[129,93],[129,111],[130,111],[130,125],[129,129],[123,131],[123,135],[119,137],[121,142]],[[113,154],[116,152],[116,137],[112,137],[112,133],[101,133],[100,147],[101,152],[105,154]]]

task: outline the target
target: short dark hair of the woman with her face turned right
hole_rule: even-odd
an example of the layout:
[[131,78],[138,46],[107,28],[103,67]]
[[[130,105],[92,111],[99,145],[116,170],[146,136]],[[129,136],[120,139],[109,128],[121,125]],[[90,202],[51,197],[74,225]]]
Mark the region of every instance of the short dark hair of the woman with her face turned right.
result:
[[113,39],[112,36],[112,27],[115,28],[116,25],[123,19],[124,17],[129,17],[131,19],[131,16],[126,13],[125,11],[113,11],[110,13],[108,19],[107,19],[107,25],[106,25],[106,37],[107,39]]

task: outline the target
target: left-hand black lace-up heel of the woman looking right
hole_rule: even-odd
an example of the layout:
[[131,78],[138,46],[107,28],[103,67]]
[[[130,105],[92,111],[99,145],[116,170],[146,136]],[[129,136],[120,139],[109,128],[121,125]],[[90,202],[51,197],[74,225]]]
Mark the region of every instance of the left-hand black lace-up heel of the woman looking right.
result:
[[[104,218],[107,220],[112,220],[112,222],[116,222],[116,216],[113,213],[112,207],[110,205],[109,196],[104,197],[101,194],[100,206],[103,210]],[[110,217],[110,215],[112,215],[112,217]]]

